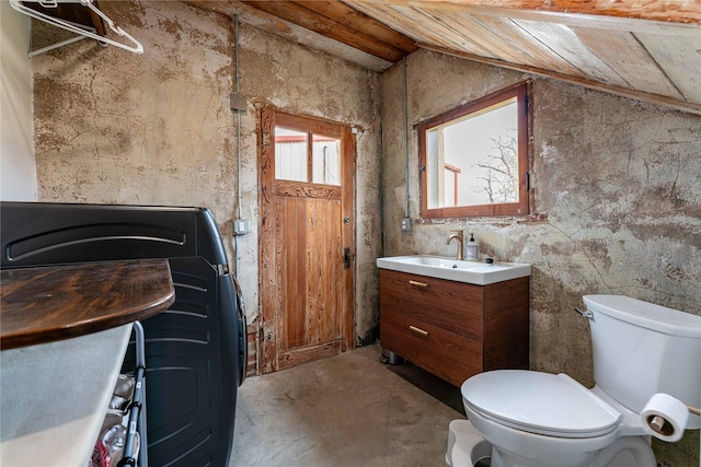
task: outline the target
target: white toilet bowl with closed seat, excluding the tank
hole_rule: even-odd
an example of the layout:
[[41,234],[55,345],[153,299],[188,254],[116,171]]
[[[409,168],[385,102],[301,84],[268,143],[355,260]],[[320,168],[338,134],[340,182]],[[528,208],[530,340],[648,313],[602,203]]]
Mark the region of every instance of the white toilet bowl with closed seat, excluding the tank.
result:
[[[461,387],[468,419],[492,445],[492,466],[590,467],[623,433],[642,436],[635,418],[565,374],[505,370],[481,373]],[[655,467],[650,444],[636,444],[630,467]],[[627,466],[628,467],[628,466]]]

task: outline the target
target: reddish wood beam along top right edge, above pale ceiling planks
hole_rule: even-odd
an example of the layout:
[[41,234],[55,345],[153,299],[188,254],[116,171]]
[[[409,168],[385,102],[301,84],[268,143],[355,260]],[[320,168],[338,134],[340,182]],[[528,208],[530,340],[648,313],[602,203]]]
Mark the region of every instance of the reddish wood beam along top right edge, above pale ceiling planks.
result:
[[699,0],[354,0],[426,10],[494,9],[701,24]]

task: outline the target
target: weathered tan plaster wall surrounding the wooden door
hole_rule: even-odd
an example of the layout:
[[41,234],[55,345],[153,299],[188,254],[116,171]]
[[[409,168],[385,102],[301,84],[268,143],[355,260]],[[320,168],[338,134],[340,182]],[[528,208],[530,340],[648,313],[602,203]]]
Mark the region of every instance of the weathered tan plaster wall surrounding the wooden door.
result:
[[[231,266],[238,262],[251,322],[258,314],[260,106],[355,125],[356,335],[364,339],[378,319],[372,265],[381,247],[379,75],[241,24],[239,71],[248,109],[239,148],[237,116],[229,109],[237,90],[233,21],[181,2],[101,8],[145,52],[83,40],[33,59],[39,200],[209,208]],[[56,42],[59,33],[35,23],[34,48]],[[234,240],[230,221],[239,208],[251,220],[251,233]]]

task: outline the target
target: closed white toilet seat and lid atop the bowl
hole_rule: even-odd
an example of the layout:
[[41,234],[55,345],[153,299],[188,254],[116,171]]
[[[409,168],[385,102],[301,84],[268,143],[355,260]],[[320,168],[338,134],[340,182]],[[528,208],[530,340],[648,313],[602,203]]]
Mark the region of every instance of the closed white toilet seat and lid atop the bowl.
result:
[[611,433],[622,415],[565,374],[526,370],[480,373],[462,384],[464,404],[506,427],[582,439]]

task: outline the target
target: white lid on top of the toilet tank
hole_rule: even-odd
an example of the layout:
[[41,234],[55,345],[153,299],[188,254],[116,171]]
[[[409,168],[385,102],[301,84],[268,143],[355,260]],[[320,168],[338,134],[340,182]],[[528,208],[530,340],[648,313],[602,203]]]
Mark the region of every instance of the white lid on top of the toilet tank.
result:
[[701,339],[701,316],[624,295],[584,295],[587,308],[671,336]]

